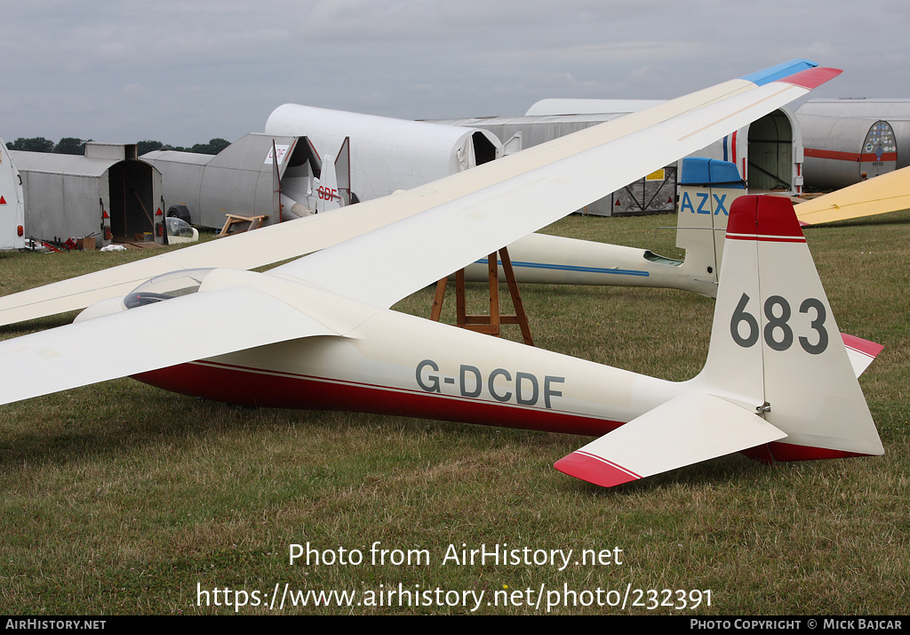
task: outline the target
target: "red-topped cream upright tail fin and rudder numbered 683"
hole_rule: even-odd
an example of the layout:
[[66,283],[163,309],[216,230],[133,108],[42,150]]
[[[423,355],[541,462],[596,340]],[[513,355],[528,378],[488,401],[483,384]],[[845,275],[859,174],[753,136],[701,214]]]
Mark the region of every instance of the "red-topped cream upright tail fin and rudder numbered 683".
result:
[[790,200],[736,200],[723,249],[711,348],[693,382],[787,435],[747,454],[884,454]]

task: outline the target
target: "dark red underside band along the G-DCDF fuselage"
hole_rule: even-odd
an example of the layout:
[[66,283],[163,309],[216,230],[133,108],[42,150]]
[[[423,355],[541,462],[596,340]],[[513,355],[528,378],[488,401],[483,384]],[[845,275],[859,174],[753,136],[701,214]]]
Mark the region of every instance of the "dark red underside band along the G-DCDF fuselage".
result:
[[623,423],[558,410],[206,361],[149,371],[134,375],[134,379],[175,393],[258,407],[413,416],[591,436],[605,435]]

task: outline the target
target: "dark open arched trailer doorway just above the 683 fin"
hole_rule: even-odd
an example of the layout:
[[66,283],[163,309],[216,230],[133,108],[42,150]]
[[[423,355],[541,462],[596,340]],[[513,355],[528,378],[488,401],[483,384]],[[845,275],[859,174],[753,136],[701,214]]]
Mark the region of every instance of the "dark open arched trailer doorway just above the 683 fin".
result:
[[[794,130],[780,110],[749,126],[749,189],[794,190]],[[795,191],[795,190],[794,190]]]

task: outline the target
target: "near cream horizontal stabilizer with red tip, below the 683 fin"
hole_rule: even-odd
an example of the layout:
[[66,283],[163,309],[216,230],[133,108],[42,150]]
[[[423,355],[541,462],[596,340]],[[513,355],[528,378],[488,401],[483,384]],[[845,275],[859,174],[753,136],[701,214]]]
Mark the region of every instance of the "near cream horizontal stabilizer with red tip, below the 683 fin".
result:
[[554,467],[612,487],[786,436],[720,397],[687,393],[564,456]]

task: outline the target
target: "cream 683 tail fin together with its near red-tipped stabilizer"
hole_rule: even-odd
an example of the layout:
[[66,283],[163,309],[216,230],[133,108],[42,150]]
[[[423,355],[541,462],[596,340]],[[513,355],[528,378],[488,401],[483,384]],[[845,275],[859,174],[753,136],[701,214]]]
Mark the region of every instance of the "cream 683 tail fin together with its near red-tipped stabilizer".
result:
[[884,454],[793,204],[730,211],[704,370],[685,391],[557,462],[602,486],[743,452],[766,461]]

